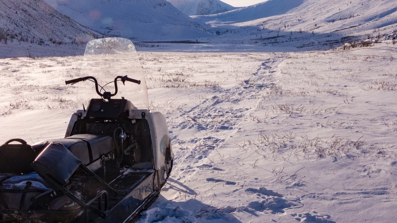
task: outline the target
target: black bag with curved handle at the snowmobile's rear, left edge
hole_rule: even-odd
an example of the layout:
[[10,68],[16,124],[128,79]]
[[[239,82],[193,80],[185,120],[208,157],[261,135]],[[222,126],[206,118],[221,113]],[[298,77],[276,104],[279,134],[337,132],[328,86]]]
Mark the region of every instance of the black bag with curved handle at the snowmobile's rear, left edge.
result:
[[[21,144],[9,144],[10,142]],[[0,146],[0,173],[28,173],[34,171],[31,163],[36,152],[25,140],[13,138]]]

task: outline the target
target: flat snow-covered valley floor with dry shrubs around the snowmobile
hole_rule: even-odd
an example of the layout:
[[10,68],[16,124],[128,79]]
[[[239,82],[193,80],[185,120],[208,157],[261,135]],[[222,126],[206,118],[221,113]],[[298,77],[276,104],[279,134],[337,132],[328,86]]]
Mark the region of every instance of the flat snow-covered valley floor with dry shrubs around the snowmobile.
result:
[[[396,46],[139,52],[175,153],[139,222],[395,222]],[[64,136],[81,60],[0,59],[0,142]]]

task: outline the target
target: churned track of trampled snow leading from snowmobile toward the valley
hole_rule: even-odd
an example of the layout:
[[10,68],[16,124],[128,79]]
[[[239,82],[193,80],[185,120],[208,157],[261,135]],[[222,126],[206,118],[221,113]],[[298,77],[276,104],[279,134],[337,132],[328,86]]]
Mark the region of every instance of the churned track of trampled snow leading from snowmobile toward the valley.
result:
[[[174,163],[187,165],[181,170],[194,168],[193,164],[205,162],[203,158],[207,158],[215,149],[222,148],[225,139],[239,131],[239,123],[253,109],[246,107],[245,102],[259,100],[262,90],[269,88],[273,82],[270,73],[276,71],[272,71],[272,67],[266,64],[278,63],[279,60],[282,57],[267,59],[256,71],[249,74],[248,80],[231,88],[214,88],[213,96],[197,100],[195,105],[181,112],[179,118],[172,123],[172,129],[177,129],[175,134],[178,134],[173,138],[173,144],[180,145]],[[187,134],[192,136],[186,136]]]

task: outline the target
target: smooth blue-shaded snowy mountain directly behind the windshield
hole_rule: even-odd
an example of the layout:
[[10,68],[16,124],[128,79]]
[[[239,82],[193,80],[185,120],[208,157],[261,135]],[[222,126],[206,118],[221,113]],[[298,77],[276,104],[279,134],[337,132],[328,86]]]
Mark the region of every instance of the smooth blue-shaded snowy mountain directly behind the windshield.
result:
[[59,12],[109,36],[144,41],[206,37],[202,24],[165,0],[45,0]]

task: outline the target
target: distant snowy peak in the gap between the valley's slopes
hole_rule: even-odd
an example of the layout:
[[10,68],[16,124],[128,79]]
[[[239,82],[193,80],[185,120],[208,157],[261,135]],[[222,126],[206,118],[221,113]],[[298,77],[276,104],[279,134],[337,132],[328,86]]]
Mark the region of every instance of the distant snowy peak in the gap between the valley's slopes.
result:
[[220,0],[167,0],[187,15],[211,15],[236,9]]

